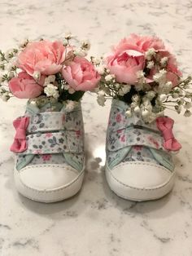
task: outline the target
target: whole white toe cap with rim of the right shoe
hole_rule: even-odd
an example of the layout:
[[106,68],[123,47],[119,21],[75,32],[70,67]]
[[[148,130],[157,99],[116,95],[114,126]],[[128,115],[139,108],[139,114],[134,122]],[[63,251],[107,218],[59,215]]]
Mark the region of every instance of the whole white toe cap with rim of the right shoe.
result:
[[157,199],[173,185],[174,172],[144,161],[125,162],[107,168],[107,181],[117,195],[133,201]]

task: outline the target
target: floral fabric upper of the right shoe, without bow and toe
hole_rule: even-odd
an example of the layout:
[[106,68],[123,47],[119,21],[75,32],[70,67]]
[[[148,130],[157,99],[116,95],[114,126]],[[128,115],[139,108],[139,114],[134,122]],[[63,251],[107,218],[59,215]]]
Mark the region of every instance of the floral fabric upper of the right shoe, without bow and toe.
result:
[[126,116],[128,105],[114,99],[107,129],[107,163],[148,161],[173,169],[172,157],[164,150],[164,138],[155,122],[146,124],[140,117]]

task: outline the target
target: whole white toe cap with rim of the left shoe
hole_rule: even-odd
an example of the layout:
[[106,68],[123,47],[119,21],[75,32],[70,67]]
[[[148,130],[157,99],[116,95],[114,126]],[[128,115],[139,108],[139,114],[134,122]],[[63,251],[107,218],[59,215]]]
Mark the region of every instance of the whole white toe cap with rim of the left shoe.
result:
[[81,188],[83,173],[71,166],[26,166],[15,170],[16,187],[35,201],[60,201],[73,196]]

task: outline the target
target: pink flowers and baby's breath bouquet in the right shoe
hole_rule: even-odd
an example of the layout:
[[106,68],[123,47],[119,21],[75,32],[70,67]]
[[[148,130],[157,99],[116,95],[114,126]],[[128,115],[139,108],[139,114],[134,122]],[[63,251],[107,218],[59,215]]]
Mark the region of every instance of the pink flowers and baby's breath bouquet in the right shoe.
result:
[[131,34],[112,48],[111,54],[95,61],[101,75],[98,104],[107,98],[129,104],[127,115],[140,115],[154,121],[164,115],[165,108],[190,117],[192,77],[181,79],[177,60],[159,38]]

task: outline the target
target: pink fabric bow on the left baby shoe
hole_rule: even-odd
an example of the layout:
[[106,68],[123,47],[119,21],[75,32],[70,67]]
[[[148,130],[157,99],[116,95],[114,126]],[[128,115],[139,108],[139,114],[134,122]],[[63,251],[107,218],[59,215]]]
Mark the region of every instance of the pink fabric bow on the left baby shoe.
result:
[[29,117],[19,117],[13,121],[13,126],[15,127],[16,134],[14,142],[11,145],[10,150],[12,152],[24,152],[27,147],[26,141],[26,130],[28,128]]

